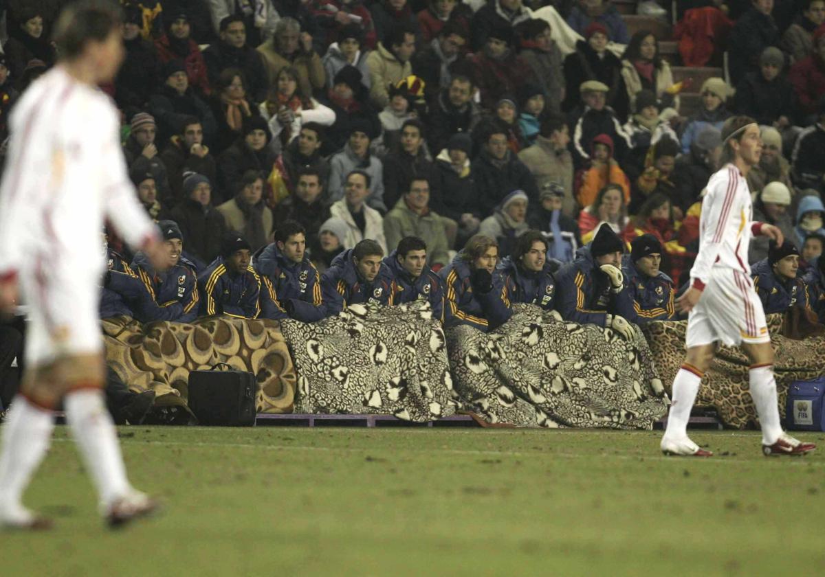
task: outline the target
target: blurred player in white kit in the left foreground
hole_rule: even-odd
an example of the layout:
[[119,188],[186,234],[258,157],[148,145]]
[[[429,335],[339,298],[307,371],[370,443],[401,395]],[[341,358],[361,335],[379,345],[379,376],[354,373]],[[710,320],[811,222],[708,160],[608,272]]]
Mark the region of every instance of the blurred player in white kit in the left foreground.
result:
[[117,527],[157,507],[126,479],[102,393],[104,217],[151,260],[160,246],[126,173],[117,111],[97,90],[123,60],[117,11],[113,2],[68,7],[55,26],[60,62],[12,114],[0,187],[0,307],[14,306],[19,286],[30,312],[26,374],[2,431],[0,526],[50,527],[21,497],[49,447],[60,401],[107,523]]

